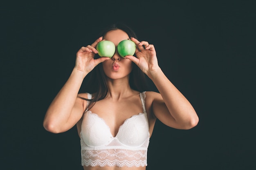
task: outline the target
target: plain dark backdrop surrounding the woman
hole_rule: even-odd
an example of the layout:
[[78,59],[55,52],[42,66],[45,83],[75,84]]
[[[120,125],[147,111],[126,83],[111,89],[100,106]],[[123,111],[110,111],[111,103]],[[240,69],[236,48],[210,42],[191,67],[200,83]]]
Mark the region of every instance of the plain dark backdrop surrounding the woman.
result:
[[1,169],[82,170],[76,127],[52,134],[43,118],[76,51],[116,21],[155,45],[159,66],[200,118],[191,130],[157,121],[147,170],[256,169],[255,1],[0,4]]

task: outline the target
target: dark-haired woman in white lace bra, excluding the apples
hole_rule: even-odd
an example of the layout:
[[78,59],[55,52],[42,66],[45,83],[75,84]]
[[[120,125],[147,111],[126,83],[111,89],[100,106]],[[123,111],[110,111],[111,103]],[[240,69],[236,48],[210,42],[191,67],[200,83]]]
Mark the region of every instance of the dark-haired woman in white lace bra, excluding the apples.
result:
[[[84,170],[146,170],[147,149],[156,119],[190,129],[198,116],[189,101],[164,75],[153,44],[139,41],[125,25],[114,24],[103,37],[76,53],[74,69],[50,104],[43,126],[53,133],[77,126]],[[103,40],[117,46],[130,39],[135,55],[97,57]],[[79,93],[86,76],[87,93]],[[147,75],[159,93],[146,91]],[[87,77],[86,77],[87,78]]]

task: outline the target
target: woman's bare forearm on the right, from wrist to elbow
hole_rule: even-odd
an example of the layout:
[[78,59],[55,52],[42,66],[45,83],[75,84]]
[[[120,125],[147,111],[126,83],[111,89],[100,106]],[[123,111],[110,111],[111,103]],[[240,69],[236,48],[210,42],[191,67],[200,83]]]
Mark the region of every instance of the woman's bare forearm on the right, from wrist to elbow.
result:
[[170,82],[159,68],[154,74],[150,75],[159,93],[162,95],[164,103],[175,121],[180,124],[190,124],[198,121],[193,106],[182,95],[182,93]]

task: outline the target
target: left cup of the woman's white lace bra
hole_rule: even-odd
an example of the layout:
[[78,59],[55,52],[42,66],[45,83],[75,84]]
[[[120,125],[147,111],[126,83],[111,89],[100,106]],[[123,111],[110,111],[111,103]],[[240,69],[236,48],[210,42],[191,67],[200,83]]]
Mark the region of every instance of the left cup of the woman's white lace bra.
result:
[[81,138],[88,146],[99,147],[113,140],[109,127],[96,114],[85,113],[81,128]]

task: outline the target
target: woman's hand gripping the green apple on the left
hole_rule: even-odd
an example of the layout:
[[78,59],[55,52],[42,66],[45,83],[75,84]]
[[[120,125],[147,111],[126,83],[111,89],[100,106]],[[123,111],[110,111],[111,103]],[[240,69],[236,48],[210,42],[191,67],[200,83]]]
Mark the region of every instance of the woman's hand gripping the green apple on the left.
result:
[[97,44],[102,41],[102,37],[98,38],[92,45],[83,46],[76,53],[76,64],[74,69],[82,71],[87,75],[99,63],[109,60],[109,57],[99,57],[94,59],[95,54],[99,53],[96,50]]

